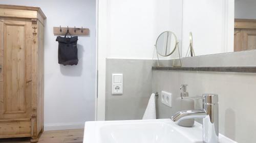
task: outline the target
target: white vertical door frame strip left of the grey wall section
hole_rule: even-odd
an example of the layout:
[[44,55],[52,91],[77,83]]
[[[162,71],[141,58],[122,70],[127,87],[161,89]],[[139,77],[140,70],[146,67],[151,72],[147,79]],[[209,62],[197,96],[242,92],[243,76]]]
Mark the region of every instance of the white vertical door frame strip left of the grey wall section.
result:
[[108,55],[108,1],[96,1],[97,92],[96,121],[105,121],[105,77]]

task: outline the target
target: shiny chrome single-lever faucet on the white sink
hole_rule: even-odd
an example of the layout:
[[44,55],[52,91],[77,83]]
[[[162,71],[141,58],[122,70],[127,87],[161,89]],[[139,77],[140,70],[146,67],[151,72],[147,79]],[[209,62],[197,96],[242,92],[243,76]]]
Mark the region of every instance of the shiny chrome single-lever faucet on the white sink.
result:
[[[203,99],[200,110],[183,110],[175,113],[170,119],[180,122],[185,119],[203,119],[203,142],[217,143],[219,140],[219,105],[217,94],[203,94],[201,97],[184,97],[182,99]],[[186,94],[185,94],[186,95]]]

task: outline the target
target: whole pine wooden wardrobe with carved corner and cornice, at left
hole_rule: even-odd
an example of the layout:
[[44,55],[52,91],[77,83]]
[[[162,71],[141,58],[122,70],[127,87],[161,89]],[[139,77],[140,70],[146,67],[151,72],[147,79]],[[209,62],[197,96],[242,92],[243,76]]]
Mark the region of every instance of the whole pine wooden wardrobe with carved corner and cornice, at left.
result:
[[40,8],[0,5],[0,138],[44,130],[44,20]]

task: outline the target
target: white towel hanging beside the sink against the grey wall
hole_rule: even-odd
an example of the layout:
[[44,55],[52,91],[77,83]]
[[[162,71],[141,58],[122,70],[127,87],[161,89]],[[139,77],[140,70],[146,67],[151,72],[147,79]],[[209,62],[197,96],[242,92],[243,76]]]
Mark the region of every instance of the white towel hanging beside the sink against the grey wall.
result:
[[147,119],[156,119],[156,101],[155,101],[155,94],[151,94],[150,100],[148,101],[143,120]]

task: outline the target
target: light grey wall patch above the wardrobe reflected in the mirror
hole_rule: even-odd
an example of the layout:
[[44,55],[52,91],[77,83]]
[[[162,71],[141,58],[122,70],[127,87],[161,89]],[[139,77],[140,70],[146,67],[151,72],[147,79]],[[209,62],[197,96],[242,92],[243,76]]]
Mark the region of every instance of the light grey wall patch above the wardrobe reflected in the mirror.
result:
[[255,0],[235,0],[234,18],[256,19],[256,1]]

